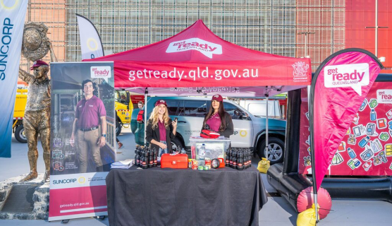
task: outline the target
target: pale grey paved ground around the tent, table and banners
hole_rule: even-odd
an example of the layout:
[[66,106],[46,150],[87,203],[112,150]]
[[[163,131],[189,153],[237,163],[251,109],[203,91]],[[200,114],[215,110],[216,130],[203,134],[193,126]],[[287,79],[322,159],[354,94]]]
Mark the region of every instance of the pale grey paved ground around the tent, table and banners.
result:
[[[130,129],[123,129],[123,133],[118,137],[124,144],[120,149],[120,160],[133,157],[135,142]],[[39,143],[39,160],[38,172],[44,173],[44,162],[42,160],[42,147]],[[257,159],[252,161],[257,165]],[[29,172],[27,162],[27,145],[18,143],[13,138],[12,141],[12,157],[11,159],[0,158],[0,181],[10,177],[16,177],[20,174]],[[262,175],[264,186],[267,192],[276,192],[269,186],[265,175]],[[259,211],[259,225],[296,225],[298,213],[290,207],[288,202],[281,197],[269,197],[268,203]],[[384,201],[365,201],[365,200],[336,200],[332,201],[332,210],[329,215],[319,222],[319,225],[382,225],[390,226],[392,213],[392,203]],[[47,222],[47,220],[0,220],[0,225],[64,225],[61,221]],[[70,220],[66,225],[109,225],[107,218],[97,220],[96,218],[83,218]]]

